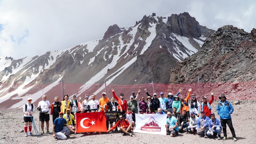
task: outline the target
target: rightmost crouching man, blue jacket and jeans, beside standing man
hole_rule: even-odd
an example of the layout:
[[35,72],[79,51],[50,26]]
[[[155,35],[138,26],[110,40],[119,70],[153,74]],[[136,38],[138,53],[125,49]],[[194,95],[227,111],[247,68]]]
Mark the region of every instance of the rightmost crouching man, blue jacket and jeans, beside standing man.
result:
[[208,123],[209,131],[207,132],[207,135],[212,135],[213,138],[215,138],[216,135],[218,134],[218,140],[220,140],[220,133],[221,133],[220,120],[215,117],[214,113],[211,113],[210,116],[211,116],[211,119],[209,120],[209,123]]

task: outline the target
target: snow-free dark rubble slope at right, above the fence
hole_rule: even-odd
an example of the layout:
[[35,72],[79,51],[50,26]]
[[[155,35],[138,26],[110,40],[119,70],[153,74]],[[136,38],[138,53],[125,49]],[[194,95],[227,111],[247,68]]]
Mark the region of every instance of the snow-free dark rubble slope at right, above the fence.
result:
[[256,29],[220,27],[196,54],[172,68],[170,83],[237,83],[256,80]]

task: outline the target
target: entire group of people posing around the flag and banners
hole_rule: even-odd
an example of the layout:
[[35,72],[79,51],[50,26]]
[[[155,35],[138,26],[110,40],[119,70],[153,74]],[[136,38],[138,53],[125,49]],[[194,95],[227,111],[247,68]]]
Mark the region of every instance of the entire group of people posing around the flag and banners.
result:
[[[140,87],[141,89],[141,87]],[[89,95],[85,95],[85,100],[82,97],[76,99],[76,95],[72,95],[72,100],[68,101],[68,95],[64,95],[63,101],[59,102],[59,97],[54,97],[54,103],[50,103],[46,100],[47,96],[43,95],[43,101],[40,101],[37,106],[37,110],[40,111],[41,121],[41,134],[44,134],[44,121],[46,123],[47,132],[49,131],[50,109],[52,115],[52,132],[53,137],[65,140],[69,136],[69,132],[75,132],[76,125],[76,113],[90,113],[98,111],[119,111],[119,119],[115,122],[106,122],[108,132],[116,133],[119,131],[117,127],[120,127],[122,135],[132,136],[132,132],[135,126],[135,114],[166,114],[166,132],[171,137],[176,136],[179,132],[186,130],[186,133],[198,134],[204,138],[209,136],[218,137],[220,140],[220,133],[223,130],[224,137],[222,140],[227,139],[226,125],[228,124],[231,130],[234,141],[236,141],[235,130],[232,125],[230,114],[234,111],[233,106],[227,101],[225,95],[220,95],[221,100],[217,105],[217,113],[220,115],[220,119],[215,117],[212,113],[211,104],[214,100],[213,92],[211,92],[211,99],[207,101],[207,97],[203,97],[203,102],[200,104],[196,100],[196,96],[192,94],[191,102],[188,103],[192,89],[188,89],[188,96],[184,99],[181,95],[181,89],[173,96],[172,93],[168,93],[167,98],[164,97],[164,93],[160,93],[160,98],[154,93],[153,96],[149,95],[147,89],[144,91],[147,94],[147,101],[145,97],[141,96],[139,102],[137,99],[140,95],[140,89],[135,95],[132,92],[130,99],[126,101],[124,94],[121,93],[120,97],[117,97],[114,89],[112,88],[113,97],[107,98],[106,93],[102,93],[102,98],[95,100],[95,95],[91,95],[92,100],[89,100]],[[117,102],[115,102],[115,100]],[[31,133],[33,113],[35,112],[35,105],[31,103],[32,99],[28,98],[28,103],[24,105],[24,131],[25,136],[33,135]],[[201,114],[199,116],[199,113]],[[63,127],[64,125],[64,127]],[[27,132],[29,128],[29,133]],[[99,132],[101,133],[101,132]]]

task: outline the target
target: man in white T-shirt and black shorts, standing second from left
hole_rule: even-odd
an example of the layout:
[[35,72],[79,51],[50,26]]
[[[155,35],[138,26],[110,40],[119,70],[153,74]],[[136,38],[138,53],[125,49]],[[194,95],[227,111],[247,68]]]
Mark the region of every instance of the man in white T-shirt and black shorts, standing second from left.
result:
[[42,132],[41,134],[44,134],[44,121],[46,123],[46,128],[47,128],[47,132],[46,133],[50,133],[49,132],[49,120],[50,120],[50,113],[49,113],[49,109],[51,108],[51,104],[49,101],[46,100],[47,96],[43,95],[42,96],[43,101],[40,101],[37,105],[37,109],[41,108],[41,128],[42,128]]

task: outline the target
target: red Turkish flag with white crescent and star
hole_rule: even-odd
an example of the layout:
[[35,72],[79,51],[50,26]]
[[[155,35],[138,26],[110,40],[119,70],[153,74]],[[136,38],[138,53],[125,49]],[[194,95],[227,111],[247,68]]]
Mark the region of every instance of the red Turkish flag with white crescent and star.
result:
[[76,133],[107,132],[106,120],[103,111],[76,113]]

